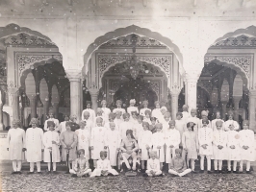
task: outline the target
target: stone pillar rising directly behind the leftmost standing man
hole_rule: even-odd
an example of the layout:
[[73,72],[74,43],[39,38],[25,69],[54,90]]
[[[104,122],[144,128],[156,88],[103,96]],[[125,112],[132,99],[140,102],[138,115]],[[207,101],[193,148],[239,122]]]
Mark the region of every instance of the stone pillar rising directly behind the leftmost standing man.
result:
[[[13,119],[19,119],[19,90],[16,87],[12,87],[8,89],[9,92],[9,105],[13,108]],[[11,125],[13,122],[10,122]]]

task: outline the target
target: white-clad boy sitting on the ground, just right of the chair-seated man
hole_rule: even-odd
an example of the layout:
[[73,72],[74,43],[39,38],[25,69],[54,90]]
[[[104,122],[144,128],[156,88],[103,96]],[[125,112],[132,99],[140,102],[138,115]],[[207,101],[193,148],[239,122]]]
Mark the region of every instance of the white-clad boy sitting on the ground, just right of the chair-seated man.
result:
[[160,161],[157,158],[157,151],[152,151],[150,153],[150,158],[147,160],[147,166],[146,166],[146,171],[143,176],[149,176],[149,177],[154,177],[154,176],[161,176],[162,171],[160,170]]

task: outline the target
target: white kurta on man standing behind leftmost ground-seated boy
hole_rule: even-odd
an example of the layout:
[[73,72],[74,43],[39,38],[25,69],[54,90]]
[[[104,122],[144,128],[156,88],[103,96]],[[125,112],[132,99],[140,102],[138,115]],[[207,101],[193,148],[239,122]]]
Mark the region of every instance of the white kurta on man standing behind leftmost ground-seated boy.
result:
[[89,152],[89,146],[90,146],[90,132],[89,130],[76,130],[75,131],[76,135],[77,135],[77,150],[81,150],[84,149],[85,150],[85,157],[87,159],[90,158],[90,152]]

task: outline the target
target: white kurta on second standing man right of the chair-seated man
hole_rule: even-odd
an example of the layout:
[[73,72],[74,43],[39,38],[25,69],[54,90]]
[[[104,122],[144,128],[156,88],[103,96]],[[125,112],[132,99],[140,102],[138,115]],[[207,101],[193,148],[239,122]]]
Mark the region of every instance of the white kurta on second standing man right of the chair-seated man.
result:
[[[152,134],[153,151],[156,151],[160,162],[165,162],[165,134],[163,132],[155,132]],[[157,147],[160,146],[161,149]]]

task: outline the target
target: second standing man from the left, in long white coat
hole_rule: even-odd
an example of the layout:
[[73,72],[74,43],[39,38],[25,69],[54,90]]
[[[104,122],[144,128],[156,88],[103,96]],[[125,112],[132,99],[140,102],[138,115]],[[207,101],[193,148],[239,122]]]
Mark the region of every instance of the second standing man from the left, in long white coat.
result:
[[38,128],[38,119],[32,118],[29,128],[26,132],[26,146],[27,146],[27,161],[30,163],[30,172],[34,173],[34,164],[37,163],[38,174],[40,174],[40,161],[42,160],[41,153],[43,152],[43,132]]

